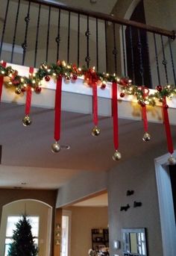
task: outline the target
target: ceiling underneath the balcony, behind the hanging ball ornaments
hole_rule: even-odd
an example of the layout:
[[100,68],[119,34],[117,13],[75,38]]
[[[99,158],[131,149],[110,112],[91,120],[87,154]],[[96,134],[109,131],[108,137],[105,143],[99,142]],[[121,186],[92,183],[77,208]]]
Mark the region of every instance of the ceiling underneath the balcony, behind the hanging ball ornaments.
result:
[[[101,135],[92,137],[91,115],[63,112],[60,145],[69,145],[71,149],[53,154],[54,110],[31,107],[30,127],[22,125],[24,112],[25,106],[1,103],[0,187],[57,189],[79,172],[102,172],[118,166],[119,162],[112,159],[111,117],[99,117]],[[144,143],[142,122],[119,119],[122,161],[147,154],[159,143],[166,144],[163,125],[150,123],[149,131],[152,140]]]

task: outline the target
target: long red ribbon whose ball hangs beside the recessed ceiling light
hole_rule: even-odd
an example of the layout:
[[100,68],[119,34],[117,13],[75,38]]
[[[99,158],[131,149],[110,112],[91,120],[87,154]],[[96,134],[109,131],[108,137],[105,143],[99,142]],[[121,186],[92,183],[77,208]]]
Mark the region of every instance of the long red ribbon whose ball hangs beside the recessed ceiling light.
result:
[[57,78],[55,94],[55,119],[54,119],[54,139],[60,140],[60,116],[61,116],[61,93],[62,77]]

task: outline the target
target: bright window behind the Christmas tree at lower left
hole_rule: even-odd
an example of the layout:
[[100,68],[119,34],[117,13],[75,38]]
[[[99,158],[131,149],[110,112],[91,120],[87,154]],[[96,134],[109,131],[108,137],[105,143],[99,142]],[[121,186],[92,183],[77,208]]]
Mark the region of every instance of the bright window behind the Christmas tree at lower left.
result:
[[[31,224],[31,231],[34,237],[34,243],[38,246],[39,237],[39,216],[28,216],[29,222]],[[7,228],[5,235],[5,252],[4,256],[7,256],[10,243],[12,243],[13,230],[16,229],[16,223],[19,221],[20,216],[8,216],[7,217]]]

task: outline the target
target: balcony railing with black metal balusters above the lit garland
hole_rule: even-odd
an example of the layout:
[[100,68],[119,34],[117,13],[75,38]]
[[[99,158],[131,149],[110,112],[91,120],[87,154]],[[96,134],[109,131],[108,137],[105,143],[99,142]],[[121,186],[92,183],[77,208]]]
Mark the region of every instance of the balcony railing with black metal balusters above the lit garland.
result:
[[0,9],[0,59],[40,66],[58,59],[133,84],[176,84],[175,32],[49,0],[7,0]]

